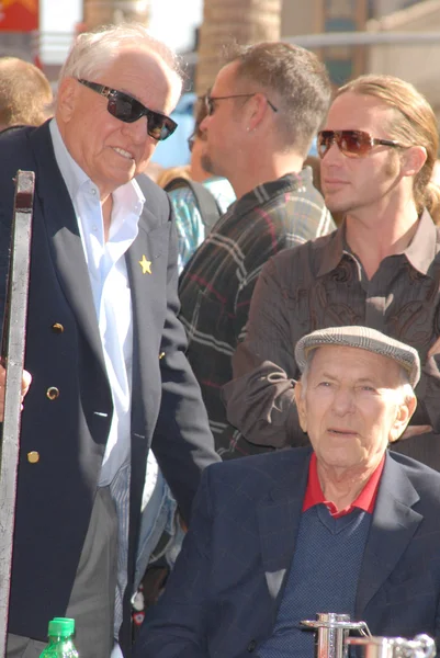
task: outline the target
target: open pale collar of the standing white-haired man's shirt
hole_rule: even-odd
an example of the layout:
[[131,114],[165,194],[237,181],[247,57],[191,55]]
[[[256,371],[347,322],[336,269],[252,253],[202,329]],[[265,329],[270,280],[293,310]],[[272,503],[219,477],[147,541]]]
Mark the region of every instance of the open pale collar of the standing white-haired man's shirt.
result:
[[[81,167],[74,160],[71,155],[69,154],[61,134],[58,128],[58,124],[56,118],[53,118],[49,123],[49,131],[52,136],[52,141],[54,145],[55,159],[57,161],[59,171],[61,172],[63,179],[66,183],[67,191],[69,192],[70,198],[76,201],[78,193],[84,185],[91,185],[97,189],[97,185],[93,183],[91,179],[87,175],[87,173],[81,169]],[[113,198],[115,203],[120,206],[125,206],[127,209],[133,211],[137,217],[140,216],[145,196],[140,191],[139,185],[135,180],[125,183],[117,188],[113,193]],[[114,228],[113,228],[114,231]]]

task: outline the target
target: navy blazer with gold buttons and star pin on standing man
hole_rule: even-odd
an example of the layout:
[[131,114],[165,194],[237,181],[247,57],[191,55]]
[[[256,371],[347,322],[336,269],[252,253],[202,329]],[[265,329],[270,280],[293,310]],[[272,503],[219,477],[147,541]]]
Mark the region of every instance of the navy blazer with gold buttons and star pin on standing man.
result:
[[[33,383],[22,417],[9,631],[45,639],[48,620],[68,602],[113,409],[78,224],[48,123],[0,138],[1,314],[18,169],[36,179],[25,359]],[[143,192],[138,237],[126,256],[134,324],[131,576],[149,446],[187,519],[202,468],[217,461],[177,319],[170,204],[147,179]],[[144,256],[150,274],[139,264]],[[59,392],[55,399],[50,387]],[[37,464],[29,463],[30,451],[40,453]]]

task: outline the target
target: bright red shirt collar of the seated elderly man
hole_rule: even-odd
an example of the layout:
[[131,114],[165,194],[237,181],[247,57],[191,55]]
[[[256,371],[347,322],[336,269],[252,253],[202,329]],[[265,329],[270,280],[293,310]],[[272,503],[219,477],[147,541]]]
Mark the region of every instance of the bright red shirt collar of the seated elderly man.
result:
[[353,500],[353,502],[349,507],[338,512],[335,504],[331,501],[326,500],[324,498],[323,489],[320,487],[318,477],[316,454],[312,453],[311,462],[308,465],[307,487],[305,490],[303,501],[303,512],[306,512],[309,508],[316,504],[324,503],[334,519],[338,519],[339,517],[345,517],[346,514],[349,514],[353,511],[354,508],[359,508],[364,512],[372,514],[374,511],[374,504],[377,497],[379,484],[381,481],[384,464],[385,455],[383,455],[381,463],[368,480],[366,485],[363,487],[362,491],[359,494],[358,498]]

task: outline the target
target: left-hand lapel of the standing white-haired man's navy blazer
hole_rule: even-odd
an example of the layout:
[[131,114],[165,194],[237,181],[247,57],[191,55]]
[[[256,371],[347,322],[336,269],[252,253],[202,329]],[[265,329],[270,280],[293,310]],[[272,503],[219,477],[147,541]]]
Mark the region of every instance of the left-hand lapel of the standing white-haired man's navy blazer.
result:
[[105,363],[97,321],[89,272],[79,235],[78,222],[64,179],[56,164],[46,123],[30,137],[37,157],[37,195],[52,248],[54,264],[63,291],[78,326],[105,373]]

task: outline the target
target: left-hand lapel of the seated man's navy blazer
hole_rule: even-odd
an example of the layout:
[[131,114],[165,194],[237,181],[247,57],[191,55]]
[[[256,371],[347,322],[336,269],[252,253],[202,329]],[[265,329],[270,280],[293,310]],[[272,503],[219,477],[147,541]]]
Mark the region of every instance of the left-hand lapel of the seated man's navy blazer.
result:
[[292,461],[284,464],[284,475],[280,473],[279,483],[258,509],[262,565],[274,601],[282,594],[292,563],[307,484],[309,453],[298,461],[295,452],[292,451]]

